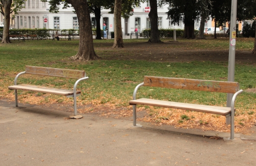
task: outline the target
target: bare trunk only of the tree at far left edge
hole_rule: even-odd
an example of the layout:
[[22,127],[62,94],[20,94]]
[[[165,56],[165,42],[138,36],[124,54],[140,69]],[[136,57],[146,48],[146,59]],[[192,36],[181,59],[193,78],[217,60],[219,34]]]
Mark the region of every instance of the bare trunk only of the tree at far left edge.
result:
[[3,3],[4,14],[5,14],[2,43],[11,43],[9,31],[10,31],[10,14],[11,14],[12,0],[3,0],[2,3]]

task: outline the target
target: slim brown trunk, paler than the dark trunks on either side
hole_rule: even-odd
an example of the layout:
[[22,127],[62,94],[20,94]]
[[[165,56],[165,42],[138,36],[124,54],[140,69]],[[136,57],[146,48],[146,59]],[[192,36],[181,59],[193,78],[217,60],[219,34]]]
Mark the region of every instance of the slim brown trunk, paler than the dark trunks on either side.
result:
[[122,0],[115,0],[114,9],[114,45],[112,48],[124,47],[123,36],[122,36],[122,25],[121,25],[121,12],[122,12]]

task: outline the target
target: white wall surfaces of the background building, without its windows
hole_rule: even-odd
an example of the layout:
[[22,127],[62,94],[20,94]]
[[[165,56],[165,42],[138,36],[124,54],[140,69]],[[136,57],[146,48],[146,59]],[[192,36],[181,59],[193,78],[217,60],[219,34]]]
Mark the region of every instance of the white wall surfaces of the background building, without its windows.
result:
[[[36,0],[37,1],[37,0]],[[28,18],[31,17],[31,28],[36,28],[37,24],[36,24],[36,17],[39,17],[39,27],[38,28],[43,28],[43,17],[46,16],[48,19],[48,22],[46,23],[46,28],[48,29],[54,29],[54,17],[60,17],[60,29],[72,29],[73,28],[73,17],[76,17],[76,14],[74,14],[72,11],[74,11],[73,8],[68,8],[68,9],[62,9],[62,6],[60,6],[59,8],[59,13],[49,13],[49,4],[46,3],[46,5],[44,6],[43,2],[41,2],[39,0],[39,6],[36,7],[36,1],[35,1],[35,7],[32,7],[32,0],[28,0],[26,1],[26,5],[25,8],[22,9],[21,11],[19,11],[18,15],[19,17],[16,16],[15,18],[15,28],[17,29],[18,27],[20,29],[22,28],[29,28],[29,20]],[[29,7],[29,4],[30,7]],[[139,7],[134,8],[134,13],[133,16],[131,16],[128,20],[127,20],[127,33],[134,33],[135,30],[135,18],[138,17],[140,18],[140,32],[142,32],[144,29],[146,29],[147,27],[147,18],[148,18],[148,9],[145,9],[147,7],[147,3],[141,3],[141,5]],[[150,9],[149,9],[150,10]],[[147,12],[146,12],[147,11]],[[167,14],[166,12],[168,11],[168,5],[163,6],[162,8],[158,8],[158,17],[162,17],[162,27],[159,28],[163,28],[163,29],[168,29],[168,28],[172,28],[172,29],[184,29],[184,24],[180,24],[180,25],[171,25],[169,26],[169,19],[167,19]],[[109,10],[103,9],[101,10],[101,19],[100,19],[100,27],[101,29],[103,29],[103,17],[108,17],[109,18],[109,22],[108,22],[108,26],[109,26],[109,32],[113,32],[114,31],[114,15],[113,14],[109,14],[108,13]],[[90,14],[91,18],[94,17],[93,14]],[[18,26],[17,25],[17,18],[20,19],[20,16],[22,16],[23,18],[23,25],[22,26]],[[24,27],[24,17],[27,17],[27,27]],[[32,26],[32,17],[35,17],[35,27]],[[124,24],[124,18],[122,18],[122,31],[125,31],[125,24]],[[210,23],[210,22],[209,22]],[[20,20],[19,20],[19,24],[20,24]],[[112,28],[110,27],[110,25],[112,25]],[[206,25],[207,26],[207,25]],[[198,29],[198,26],[195,26],[195,29]]]

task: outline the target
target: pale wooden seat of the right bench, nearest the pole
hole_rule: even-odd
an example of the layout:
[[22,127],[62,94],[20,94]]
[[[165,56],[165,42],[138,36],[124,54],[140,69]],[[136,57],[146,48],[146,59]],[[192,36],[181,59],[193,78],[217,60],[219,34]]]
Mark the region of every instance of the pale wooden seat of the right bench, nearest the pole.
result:
[[176,108],[176,109],[195,110],[198,112],[218,114],[218,115],[227,115],[231,111],[231,107],[189,104],[189,103],[180,103],[180,102],[145,99],[145,98],[131,100],[129,101],[129,103],[130,105],[141,104],[141,105],[161,106],[161,107]]

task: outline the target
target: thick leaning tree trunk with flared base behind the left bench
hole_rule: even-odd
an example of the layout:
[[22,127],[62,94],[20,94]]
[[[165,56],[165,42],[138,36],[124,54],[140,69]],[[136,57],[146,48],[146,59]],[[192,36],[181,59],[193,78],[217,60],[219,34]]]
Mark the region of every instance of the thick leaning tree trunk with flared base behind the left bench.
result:
[[93,46],[92,24],[87,1],[67,0],[67,2],[73,6],[78,16],[80,35],[78,53],[70,59],[86,61],[98,59]]

